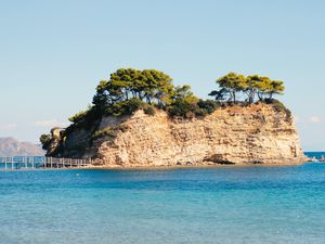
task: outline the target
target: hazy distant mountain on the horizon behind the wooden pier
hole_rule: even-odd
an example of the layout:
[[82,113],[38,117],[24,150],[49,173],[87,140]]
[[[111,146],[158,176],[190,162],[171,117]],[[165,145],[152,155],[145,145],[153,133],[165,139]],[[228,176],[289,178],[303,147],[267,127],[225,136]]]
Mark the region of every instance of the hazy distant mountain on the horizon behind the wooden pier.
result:
[[43,156],[40,145],[20,142],[14,138],[0,138],[0,156]]

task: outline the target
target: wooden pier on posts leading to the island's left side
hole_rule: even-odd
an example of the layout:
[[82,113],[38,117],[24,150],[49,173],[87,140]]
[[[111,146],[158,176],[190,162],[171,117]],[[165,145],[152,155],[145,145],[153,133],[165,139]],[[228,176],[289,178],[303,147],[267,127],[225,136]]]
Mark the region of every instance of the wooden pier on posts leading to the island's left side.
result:
[[93,165],[91,158],[77,159],[42,156],[0,157],[0,170],[83,168],[91,165]]

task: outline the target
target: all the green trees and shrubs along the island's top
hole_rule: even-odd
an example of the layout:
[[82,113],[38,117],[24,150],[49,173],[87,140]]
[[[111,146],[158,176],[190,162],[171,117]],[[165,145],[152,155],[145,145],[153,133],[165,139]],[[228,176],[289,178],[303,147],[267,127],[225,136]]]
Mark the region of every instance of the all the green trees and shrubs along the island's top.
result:
[[252,75],[245,77],[229,73],[217,79],[218,90],[209,95],[217,101],[199,100],[187,85],[174,87],[172,78],[156,69],[120,68],[110,74],[108,80],[101,80],[93,97],[93,106],[69,118],[73,125],[92,128],[104,115],[130,115],[142,108],[154,115],[155,107],[168,111],[171,117],[192,118],[211,114],[220,106],[220,101],[253,103],[258,98],[272,100],[284,92],[283,81]]

